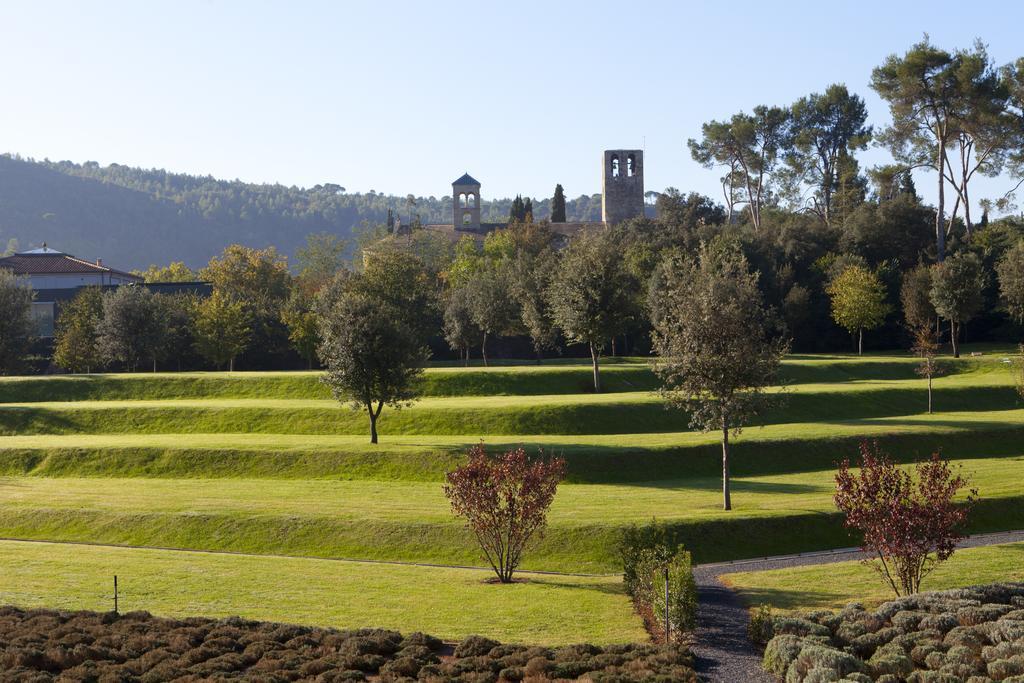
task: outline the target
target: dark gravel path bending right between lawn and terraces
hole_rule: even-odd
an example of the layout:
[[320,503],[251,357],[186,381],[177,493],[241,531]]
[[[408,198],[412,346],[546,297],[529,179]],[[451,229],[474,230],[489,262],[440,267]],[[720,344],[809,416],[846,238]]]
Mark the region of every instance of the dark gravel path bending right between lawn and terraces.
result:
[[[979,533],[964,540],[958,548],[978,548],[1000,543],[1024,541],[1024,530]],[[696,670],[712,683],[772,683],[761,670],[761,651],[746,638],[749,612],[735,592],[726,588],[719,577],[735,571],[763,571],[785,567],[829,564],[863,559],[857,548],[842,548],[820,553],[802,553],[760,559],[700,564],[693,567],[697,585],[696,642],[693,654]]]

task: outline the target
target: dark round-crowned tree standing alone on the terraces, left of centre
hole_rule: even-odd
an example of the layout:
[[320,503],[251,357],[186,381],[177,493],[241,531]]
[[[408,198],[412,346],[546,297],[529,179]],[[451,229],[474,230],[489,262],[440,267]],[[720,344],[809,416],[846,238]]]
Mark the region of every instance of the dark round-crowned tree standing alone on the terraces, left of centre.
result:
[[416,398],[430,350],[419,322],[366,278],[342,273],[322,290],[318,353],[327,368],[324,383],[336,399],[367,412],[370,442],[377,443],[381,412]]

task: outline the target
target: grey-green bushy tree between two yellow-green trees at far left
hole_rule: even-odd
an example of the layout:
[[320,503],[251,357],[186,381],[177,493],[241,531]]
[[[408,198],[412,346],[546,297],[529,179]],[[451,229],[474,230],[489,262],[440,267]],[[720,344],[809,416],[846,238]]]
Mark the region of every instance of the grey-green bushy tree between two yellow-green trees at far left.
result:
[[125,285],[103,294],[96,345],[104,362],[120,362],[132,373],[146,358],[156,372],[165,332],[159,302],[146,288]]

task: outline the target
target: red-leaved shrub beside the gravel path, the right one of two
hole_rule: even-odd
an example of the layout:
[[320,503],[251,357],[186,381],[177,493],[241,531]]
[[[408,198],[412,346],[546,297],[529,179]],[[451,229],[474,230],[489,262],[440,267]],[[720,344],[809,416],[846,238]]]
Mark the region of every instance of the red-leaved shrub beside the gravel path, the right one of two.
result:
[[846,515],[846,527],[863,537],[865,560],[888,582],[897,596],[912,595],[940,562],[948,559],[964,537],[971,489],[965,505],[954,499],[968,481],[935,453],[901,470],[879,449],[860,445],[860,471],[843,461],[836,475],[836,507]]

